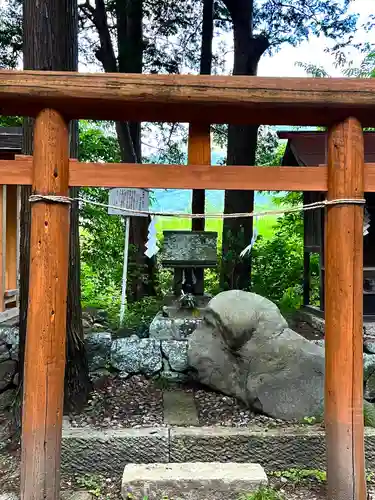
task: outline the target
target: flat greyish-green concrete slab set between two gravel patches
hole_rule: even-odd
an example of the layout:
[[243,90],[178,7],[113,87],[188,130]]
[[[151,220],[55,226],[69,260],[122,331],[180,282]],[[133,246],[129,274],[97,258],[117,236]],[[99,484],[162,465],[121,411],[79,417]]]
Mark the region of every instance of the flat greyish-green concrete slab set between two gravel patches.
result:
[[164,391],[164,423],[167,425],[199,425],[193,393],[181,390]]

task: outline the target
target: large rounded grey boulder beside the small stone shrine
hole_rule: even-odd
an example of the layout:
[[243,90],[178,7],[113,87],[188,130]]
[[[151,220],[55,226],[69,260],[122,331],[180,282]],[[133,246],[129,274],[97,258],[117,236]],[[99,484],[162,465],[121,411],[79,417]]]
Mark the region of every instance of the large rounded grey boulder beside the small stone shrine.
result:
[[198,379],[274,418],[320,417],[324,349],[288,328],[275,304],[231,290],[208,304],[189,339]]

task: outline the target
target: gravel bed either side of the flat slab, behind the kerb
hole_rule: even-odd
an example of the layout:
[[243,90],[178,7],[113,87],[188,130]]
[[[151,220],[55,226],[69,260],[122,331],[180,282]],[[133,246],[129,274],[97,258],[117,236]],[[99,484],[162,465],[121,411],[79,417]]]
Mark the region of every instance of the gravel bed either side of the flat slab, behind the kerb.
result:
[[[164,384],[165,385],[165,384]],[[199,425],[246,427],[264,425],[287,427],[293,423],[256,415],[235,398],[204,389],[202,386],[165,385],[165,388],[194,394]],[[73,427],[120,429],[163,426],[163,390],[158,380],[133,376],[109,377],[92,395],[86,408],[69,415]]]

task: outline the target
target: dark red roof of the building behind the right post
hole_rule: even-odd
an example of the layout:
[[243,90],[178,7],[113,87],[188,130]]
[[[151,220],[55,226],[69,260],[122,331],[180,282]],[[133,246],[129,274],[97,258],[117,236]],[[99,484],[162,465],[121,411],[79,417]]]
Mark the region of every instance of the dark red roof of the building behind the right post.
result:
[[[327,163],[327,132],[278,132],[278,136],[288,140],[282,165],[313,166]],[[375,163],[375,132],[365,132],[364,143],[365,162]]]

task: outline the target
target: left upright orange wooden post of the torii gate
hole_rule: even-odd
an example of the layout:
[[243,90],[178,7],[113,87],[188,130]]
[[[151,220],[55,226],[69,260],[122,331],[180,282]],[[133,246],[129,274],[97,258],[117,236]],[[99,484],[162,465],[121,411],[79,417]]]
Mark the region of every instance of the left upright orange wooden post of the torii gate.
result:
[[[68,124],[43,110],[35,122],[33,193],[68,196]],[[22,419],[22,500],[57,500],[63,416],[69,205],[31,207],[30,292]]]

